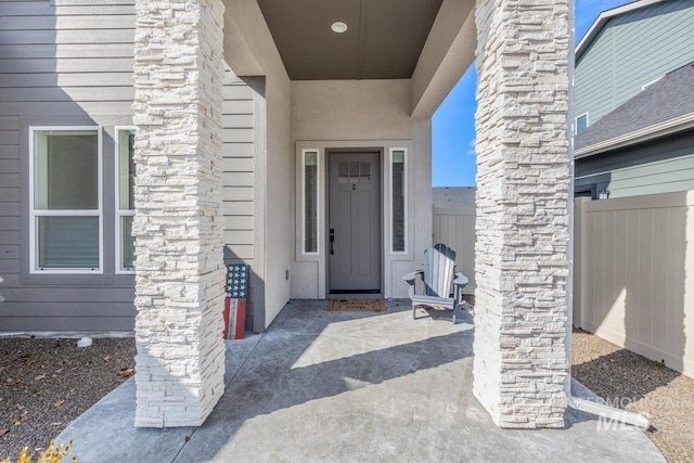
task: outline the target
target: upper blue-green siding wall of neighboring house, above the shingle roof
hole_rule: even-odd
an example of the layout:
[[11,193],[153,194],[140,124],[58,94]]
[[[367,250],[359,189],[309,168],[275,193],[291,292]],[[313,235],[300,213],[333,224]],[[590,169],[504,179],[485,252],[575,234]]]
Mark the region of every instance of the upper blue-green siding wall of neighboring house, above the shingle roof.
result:
[[576,56],[575,116],[596,123],[645,83],[694,60],[694,5],[670,0],[615,16]]

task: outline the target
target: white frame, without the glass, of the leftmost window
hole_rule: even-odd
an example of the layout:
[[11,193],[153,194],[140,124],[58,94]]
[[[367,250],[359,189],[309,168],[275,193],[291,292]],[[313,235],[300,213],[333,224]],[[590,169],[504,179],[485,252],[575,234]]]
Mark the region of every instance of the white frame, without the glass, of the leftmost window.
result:
[[[95,131],[98,172],[98,209],[47,210],[35,208],[34,191],[34,138],[44,131]],[[103,223],[103,136],[99,126],[35,126],[29,127],[29,273],[31,274],[101,274],[104,267],[104,223]],[[38,266],[37,221],[39,217],[99,217],[99,268],[49,268]]]

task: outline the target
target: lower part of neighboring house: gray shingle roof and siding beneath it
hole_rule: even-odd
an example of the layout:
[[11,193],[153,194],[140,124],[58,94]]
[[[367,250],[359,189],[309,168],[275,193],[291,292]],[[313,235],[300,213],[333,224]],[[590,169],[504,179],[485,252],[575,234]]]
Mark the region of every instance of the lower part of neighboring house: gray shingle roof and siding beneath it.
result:
[[694,63],[576,137],[576,192],[593,198],[694,190]]

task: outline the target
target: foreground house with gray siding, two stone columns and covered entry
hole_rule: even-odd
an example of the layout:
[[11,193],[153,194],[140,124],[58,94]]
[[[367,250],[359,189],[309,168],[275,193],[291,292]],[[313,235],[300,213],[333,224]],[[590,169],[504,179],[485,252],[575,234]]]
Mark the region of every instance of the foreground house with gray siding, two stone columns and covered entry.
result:
[[134,327],[136,425],[200,425],[224,260],[256,331],[291,298],[407,295],[432,114],[476,55],[474,393],[564,427],[571,5],[0,2],[0,327]]

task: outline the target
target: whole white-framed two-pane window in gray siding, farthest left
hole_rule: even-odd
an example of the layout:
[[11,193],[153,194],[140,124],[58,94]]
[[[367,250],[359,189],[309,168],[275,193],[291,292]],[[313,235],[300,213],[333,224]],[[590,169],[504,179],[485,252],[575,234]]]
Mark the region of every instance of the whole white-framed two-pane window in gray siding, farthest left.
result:
[[30,128],[33,273],[101,272],[101,132]]

